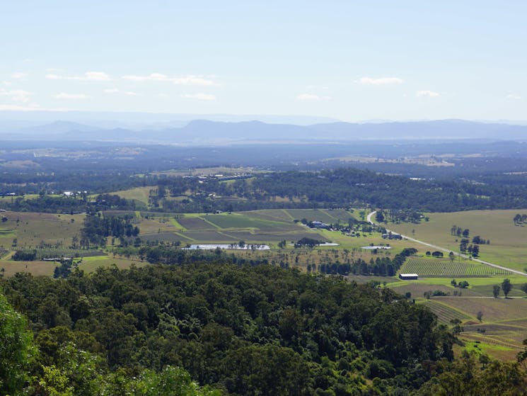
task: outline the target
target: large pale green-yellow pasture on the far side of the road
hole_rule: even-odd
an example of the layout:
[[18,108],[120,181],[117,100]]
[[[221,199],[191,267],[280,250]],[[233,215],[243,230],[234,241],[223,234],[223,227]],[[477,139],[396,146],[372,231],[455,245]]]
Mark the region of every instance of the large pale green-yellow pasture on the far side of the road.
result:
[[451,227],[468,228],[470,241],[475,235],[490,239],[490,244],[480,245],[480,259],[523,271],[527,267],[527,226],[514,225],[513,218],[517,213],[527,213],[527,209],[427,213],[428,222],[390,223],[387,227],[405,235],[412,235],[414,230],[415,238],[453,251],[458,251],[461,237],[451,235]]

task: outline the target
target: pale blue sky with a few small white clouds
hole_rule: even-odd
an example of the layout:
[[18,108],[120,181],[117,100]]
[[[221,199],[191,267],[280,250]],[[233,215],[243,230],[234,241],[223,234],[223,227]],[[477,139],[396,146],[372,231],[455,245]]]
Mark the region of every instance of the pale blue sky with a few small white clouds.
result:
[[527,120],[527,1],[0,1],[0,111]]

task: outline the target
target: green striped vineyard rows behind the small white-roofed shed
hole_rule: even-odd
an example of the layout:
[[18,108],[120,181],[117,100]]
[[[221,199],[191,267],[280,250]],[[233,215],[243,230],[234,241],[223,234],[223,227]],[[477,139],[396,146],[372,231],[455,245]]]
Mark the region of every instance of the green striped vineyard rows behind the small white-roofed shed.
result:
[[[423,277],[456,278],[456,277],[480,277],[480,276],[505,276],[510,271],[494,268],[485,264],[466,261],[437,261],[435,259],[407,259],[400,272],[417,273]],[[527,278],[526,278],[527,281]]]

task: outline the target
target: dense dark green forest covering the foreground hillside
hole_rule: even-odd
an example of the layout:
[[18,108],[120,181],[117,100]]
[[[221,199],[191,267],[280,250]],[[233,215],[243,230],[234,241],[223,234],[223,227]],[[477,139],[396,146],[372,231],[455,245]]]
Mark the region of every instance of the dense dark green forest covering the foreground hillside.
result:
[[[30,375],[0,383],[2,394],[209,392],[192,378],[226,395],[429,395],[441,394],[429,391],[445,381],[466,385],[467,370],[474,383],[490,375],[479,363],[451,363],[453,334],[427,307],[335,276],[193,264],[73,271],[58,280],[19,273],[1,287],[35,334],[18,366]],[[508,375],[502,395],[521,395],[520,366],[492,364]],[[195,393],[163,393],[170,378],[184,378]],[[496,394],[504,380],[458,394]],[[140,381],[158,391],[139,392]]]

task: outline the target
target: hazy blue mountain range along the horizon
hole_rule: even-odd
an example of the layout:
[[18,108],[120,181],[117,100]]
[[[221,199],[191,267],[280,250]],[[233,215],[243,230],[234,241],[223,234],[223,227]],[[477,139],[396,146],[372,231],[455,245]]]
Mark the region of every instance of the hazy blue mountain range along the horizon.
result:
[[179,121],[177,126],[146,125],[134,129],[104,128],[100,122],[58,120],[24,126],[0,120],[3,140],[69,140],[159,142],[183,145],[216,145],[250,142],[352,142],[356,140],[521,140],[527,141],[527,125],[482,123],[466,120],[435,120],[386,123],[264,123],[216,120]]

